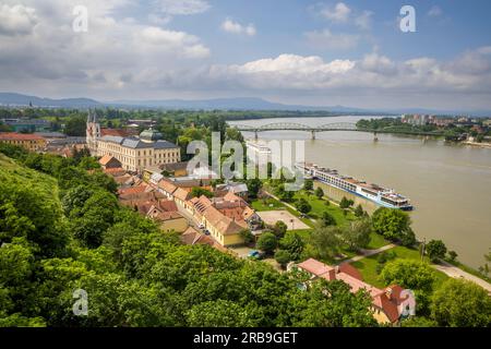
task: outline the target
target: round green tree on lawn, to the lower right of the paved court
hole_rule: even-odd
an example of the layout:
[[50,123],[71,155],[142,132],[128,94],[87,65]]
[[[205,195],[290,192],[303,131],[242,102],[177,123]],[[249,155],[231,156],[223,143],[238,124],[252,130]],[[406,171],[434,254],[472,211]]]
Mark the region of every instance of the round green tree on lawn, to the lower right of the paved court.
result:
[[310,234],[309,249],[312,257],[331,260],[340,248],[340,230],[337,227],[318,227]]

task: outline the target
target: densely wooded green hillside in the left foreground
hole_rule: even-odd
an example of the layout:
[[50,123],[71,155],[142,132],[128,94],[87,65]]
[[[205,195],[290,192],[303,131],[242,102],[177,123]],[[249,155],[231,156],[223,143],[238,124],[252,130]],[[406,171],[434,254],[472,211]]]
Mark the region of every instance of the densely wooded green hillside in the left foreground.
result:
[[[302,275],[180,244],[119,206],[91,157],[0,153],[15,158],[0,155],[0,326],[375,325],[346,284],[302,291]],[[75,289],[87,316],[73,313]]]

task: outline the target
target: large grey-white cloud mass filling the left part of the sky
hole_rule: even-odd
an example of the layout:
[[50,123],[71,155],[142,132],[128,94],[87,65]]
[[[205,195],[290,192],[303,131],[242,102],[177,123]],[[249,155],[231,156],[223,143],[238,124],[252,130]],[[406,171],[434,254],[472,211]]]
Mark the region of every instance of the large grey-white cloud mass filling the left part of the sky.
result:
[[[81,2],[89,9],[87,33],[72,31],[72,9]],[[0,35],[0,89],[43,85],[85,94],[87,88],[105,93],[142,87],[145,79],[161,71],[194,67],[196,60],[209,57],[195,35],[116,17],[113,13],[134,4],[129,0],[24,0],[23,4],[35,9],[31,12],[37,24],[22,37]]]

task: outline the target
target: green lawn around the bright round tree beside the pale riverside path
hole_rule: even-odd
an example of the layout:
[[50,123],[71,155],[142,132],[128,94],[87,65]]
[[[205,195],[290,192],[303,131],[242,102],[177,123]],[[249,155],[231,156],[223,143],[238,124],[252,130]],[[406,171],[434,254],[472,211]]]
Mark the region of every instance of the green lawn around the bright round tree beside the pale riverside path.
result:
[[[395,260],[402,258],[415,261],[421,260],[418,250],[408,249],[405,246],[395,246],[394,249],[391,249],[388,251],[395,252],[396,254]],[[376,258],[378,254],[362,258],[358,262],[354,262],[351,263],[351,265],[355,266],[358,270],[360,270],[361,275],[363,276],[363,280],[366,282],[371,284],[379,288],[383,288],[385,285],[379,279],[379,274],[376,273],[376,265],[379,264],[376,262]],[[424,261],[429,262],[428,257],[424,257]],[[436,277],[435,288],[439,287],[444,280],[448,278],[448,276],[439,270],[434,270],[434,275]]]

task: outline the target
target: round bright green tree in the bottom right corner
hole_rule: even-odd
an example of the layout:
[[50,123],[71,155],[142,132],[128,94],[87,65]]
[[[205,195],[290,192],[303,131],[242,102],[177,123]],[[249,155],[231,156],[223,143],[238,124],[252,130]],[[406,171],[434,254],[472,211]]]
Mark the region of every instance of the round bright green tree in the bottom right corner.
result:
[[491,326],[491,298],[480,286],[448,278],[434,292],[431,315],[440,326]]

